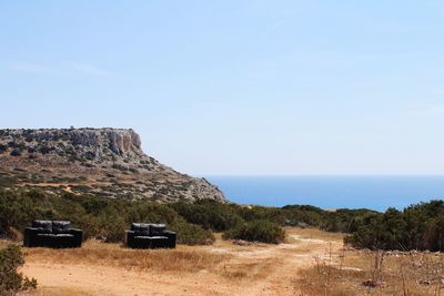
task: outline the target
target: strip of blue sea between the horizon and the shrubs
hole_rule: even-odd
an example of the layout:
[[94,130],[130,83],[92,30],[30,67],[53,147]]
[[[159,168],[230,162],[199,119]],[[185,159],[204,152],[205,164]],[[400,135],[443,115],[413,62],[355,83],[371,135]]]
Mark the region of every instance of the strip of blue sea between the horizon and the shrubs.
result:
[[404,208],[444,198],[444,176],[210,176],[240,204],[322,208]]

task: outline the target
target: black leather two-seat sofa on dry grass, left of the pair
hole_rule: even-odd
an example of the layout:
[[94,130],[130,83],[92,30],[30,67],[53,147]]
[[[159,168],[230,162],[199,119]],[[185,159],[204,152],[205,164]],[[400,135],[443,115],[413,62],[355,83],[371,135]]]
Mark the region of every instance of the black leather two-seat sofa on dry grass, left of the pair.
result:
[[69,221],[36,220],[24,229],[23,245],[27,247],[81,247],[82,231],[71,228]]

